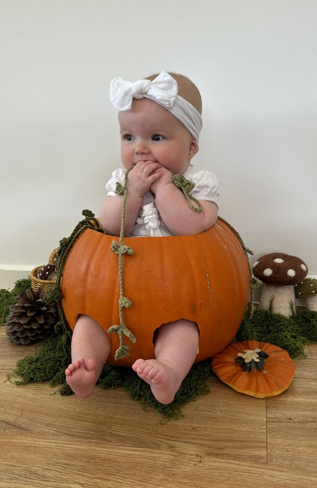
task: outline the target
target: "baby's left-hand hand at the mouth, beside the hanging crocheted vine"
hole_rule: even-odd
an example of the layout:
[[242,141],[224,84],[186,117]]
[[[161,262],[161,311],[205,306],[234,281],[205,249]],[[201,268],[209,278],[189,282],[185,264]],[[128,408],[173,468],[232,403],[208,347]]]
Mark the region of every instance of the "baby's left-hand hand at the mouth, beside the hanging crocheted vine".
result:
[[139,161],[128,175],[128,189],[143,197],[151,185],[163,176],[163,169],[158,161]]

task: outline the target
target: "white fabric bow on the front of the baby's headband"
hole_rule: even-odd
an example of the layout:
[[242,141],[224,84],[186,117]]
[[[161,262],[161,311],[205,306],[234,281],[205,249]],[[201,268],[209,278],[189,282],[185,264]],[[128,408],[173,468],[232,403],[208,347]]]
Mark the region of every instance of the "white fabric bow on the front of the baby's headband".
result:
[[134,98],[144,97],[171,108],[177,94],[177,81],[166,71],[161,71],[153,81],[128,81],[114,78],[110,83],[110,101],[119,112],[130,110]]

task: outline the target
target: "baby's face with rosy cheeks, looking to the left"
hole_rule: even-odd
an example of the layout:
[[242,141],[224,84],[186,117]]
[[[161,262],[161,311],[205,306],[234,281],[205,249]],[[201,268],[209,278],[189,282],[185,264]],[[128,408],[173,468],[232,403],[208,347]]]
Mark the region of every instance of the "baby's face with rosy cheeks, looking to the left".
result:
[[118,119],[125,169],[139,161],[158,161],[173,173],[186,171],[193,136],[168,110],[146,98],[134,99]]

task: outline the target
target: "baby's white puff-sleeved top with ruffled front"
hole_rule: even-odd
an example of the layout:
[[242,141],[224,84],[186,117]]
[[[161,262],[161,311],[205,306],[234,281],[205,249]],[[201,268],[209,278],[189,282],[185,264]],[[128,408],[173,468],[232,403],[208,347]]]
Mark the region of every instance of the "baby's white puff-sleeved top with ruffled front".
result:
[[[125,170],[116,169],[112,173],[112,178],[106,184],[108,197],[116,195],[116,183],[124,185]],[[199,169],[197,166],[190,164],[183,176],[195,183],[194,188],[188,192],[189,195],[197,200],[207,200],[214,202],[219,208],[219,181],[210,171]],[[155,204],[155,198],[150,191],[143,197],[143,204],[131,233],[131,237],[163,237],[173,236],[172,232],[166,227],[158,212]]]

